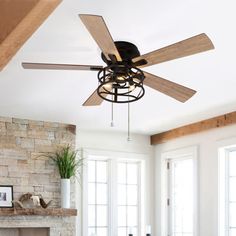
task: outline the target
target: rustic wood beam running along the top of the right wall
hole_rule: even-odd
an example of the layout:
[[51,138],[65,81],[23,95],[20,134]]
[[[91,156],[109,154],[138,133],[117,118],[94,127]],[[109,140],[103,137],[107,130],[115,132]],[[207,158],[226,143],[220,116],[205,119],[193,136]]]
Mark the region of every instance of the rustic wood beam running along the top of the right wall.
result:
[[179,138],[189,134],[195,134],[209,129],[220,128],[235,123],[236,111],[152,135],[151,144],[155,145],[165,143],[171,139]]

